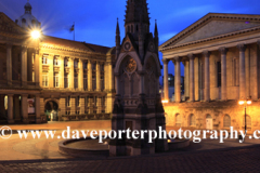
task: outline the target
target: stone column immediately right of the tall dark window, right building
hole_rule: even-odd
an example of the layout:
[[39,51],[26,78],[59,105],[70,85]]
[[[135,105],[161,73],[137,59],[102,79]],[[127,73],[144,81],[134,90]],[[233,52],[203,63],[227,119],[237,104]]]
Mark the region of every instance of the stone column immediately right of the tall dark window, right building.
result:
[[226,101],[226,48],[220,48],[221,53],[221,99]]

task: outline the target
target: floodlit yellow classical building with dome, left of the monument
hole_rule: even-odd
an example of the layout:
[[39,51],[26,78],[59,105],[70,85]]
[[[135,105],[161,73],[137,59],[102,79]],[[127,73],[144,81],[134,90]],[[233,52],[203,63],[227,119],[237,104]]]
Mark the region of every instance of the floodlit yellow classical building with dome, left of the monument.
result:
[[15,22],[0,13],[0,123],[109,118],[115,48],[34,39],[41,23],[24,8]]

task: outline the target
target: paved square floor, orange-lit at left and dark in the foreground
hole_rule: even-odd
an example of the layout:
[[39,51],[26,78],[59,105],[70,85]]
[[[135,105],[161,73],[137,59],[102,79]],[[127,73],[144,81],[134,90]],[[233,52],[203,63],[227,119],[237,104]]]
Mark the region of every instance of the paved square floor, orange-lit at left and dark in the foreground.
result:
[[[109,121],[56,122],[40,125],[11,125],[22,129],[109,130]],[[98,128],[94,128],[98,127]],[[174,128],[168,127],[167,130]],[[205,139],[181,150],[139,157],[74,158],[61,154],[57,143],[63,139],[21,139],[13,134],[0,139],[0,173],[5,172],[260,172],[260,143],[246,139]]]

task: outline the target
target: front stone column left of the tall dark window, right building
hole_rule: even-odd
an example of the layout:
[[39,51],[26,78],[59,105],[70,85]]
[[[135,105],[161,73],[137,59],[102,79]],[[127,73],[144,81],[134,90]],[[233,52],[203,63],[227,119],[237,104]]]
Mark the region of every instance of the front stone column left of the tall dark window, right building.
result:
[[204,51],[204,56],[205,56],[205,96],[204,101],[209,102],[210,101],[210,95],[209,95],[209,56],[210,53],[208,51]]

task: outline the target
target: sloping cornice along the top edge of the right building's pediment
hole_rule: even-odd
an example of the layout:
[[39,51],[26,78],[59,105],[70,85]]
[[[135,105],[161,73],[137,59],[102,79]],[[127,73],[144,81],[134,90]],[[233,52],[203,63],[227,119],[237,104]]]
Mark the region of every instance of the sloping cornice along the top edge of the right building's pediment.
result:
[[159,51],[162,51],[167,49],[166,46],[170,46],[170,44],[177,42],[178,40],[186,37],[187,35],[194,32],[197,28],[208,24],[208,22],[213,19],[222,19],[222,21],[253,21],[253,22],[260,22],[260,15],[245,15],[245,14],[224,14],[224,13],[208,13],[191,26],[188,26],[183,31],[179,32],[168,41],[166,41],[164,44],[159,46]]

